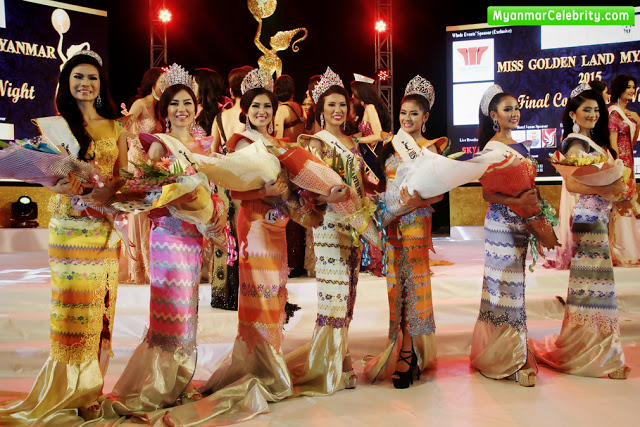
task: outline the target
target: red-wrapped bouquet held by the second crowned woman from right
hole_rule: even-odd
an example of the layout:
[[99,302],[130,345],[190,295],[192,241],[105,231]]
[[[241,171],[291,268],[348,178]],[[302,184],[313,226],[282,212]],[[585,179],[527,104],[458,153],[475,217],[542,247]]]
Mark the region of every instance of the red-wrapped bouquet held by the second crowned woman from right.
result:
[[[527,190],[536,188],[535,168],[520,157],[509,154],[499,163],[494,163],[480,178],[482,187],[489,193],[502,193],[518,197]],[[509,208],[525,221],[532,238],[532,251],[540,247],[553,249],[558,246],[558,238],[553,230],[558,218],[545,199],[535,205],[513,206]],[[542,253],[542,251],[540,251]],[[537,254],[536,254],[537,255]],[[534,256],[534,264],[537,256]]]

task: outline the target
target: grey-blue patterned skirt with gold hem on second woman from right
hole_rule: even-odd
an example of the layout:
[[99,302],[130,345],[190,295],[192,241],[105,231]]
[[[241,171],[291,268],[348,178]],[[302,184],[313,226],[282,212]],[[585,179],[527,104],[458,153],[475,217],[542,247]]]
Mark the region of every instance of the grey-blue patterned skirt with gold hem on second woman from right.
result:
[[505,205],[490,204],[484,221],[485,263],[480,314],[471,338],[471,366],[501,379],[527,361],[524,268],[527,231]]

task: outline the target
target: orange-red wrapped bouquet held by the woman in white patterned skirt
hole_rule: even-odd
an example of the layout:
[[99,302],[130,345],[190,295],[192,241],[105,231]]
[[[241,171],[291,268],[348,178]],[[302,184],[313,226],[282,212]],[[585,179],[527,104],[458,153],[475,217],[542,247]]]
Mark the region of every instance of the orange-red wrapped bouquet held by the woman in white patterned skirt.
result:
[[[291,182],[312,193],[328,196],[334,187],[352,183],[353,162],[345,165],[340,156],[334,156],[333,168],[302,147],[293,147],[278,159],[289,171]],[[370,243],[380,247],[380,233],[372,220],[375,205],[367,198],[361,198],[355,191],[350,191],[349,200],[331,203],[330,209],[353,228],[354,246],[360,244],[359,237],[362,235]]]

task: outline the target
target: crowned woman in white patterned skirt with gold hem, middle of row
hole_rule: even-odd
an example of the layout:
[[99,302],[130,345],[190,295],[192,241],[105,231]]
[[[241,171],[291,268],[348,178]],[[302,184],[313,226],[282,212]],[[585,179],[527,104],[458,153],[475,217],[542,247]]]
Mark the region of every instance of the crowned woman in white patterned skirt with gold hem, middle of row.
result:
[[[340,172],[350,186],[336,186],[329,196],[324,222],[313,230],[318,285],[318,315],[311,343],[287,356],[295,393],[328,395],[354,388],[356,375],[348,348],[348,329],[353,317],[361,250],[354,246],[352,227],[333,211],[332,203],[348,200],[352,193],[364,198],[364,161],[357,144],[343,133],[347,120],[347,91],[331,69],[311,93],[316,122],[323,129],[308,148],[329,166],[337,159],[347,165]],[[349,175],[349,176],[347,176]]]

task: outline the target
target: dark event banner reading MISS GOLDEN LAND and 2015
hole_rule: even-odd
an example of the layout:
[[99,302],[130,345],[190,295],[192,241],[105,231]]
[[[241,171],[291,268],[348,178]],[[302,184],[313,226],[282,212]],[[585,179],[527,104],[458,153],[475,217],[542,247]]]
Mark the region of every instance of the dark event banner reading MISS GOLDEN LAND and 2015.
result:
[[[636,22],[640,22],[636,11]],[[640,78],[640,26],[447,27],[448,124],[452,150],[477,151],[480,98],[492,84],[521,108],[516,141],[531,141],[540,180],[560,180],[548,157],[562,141],[562,112],[580,83]],[[627,108],[640,112],[636,97]],[[640,173],[640,143],[634,147]]]

